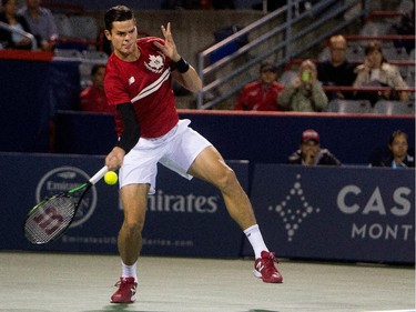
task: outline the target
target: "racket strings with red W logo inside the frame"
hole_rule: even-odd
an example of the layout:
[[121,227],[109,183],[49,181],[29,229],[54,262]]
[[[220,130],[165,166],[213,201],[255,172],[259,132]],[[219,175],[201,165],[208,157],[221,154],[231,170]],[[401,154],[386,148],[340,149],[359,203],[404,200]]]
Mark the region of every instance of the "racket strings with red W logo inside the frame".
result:
[[58,238],[70,225],[75,211],[75,204],[68,195],[53,197],[41,202],[26,221],[24,232],[28,240],[42,244]]

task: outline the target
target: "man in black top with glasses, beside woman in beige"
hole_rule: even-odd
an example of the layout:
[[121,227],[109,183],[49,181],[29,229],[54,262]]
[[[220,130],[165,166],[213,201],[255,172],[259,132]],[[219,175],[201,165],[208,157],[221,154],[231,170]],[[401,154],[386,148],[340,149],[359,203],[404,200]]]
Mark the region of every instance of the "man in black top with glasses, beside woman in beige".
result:
[[[324,85],[353,85],[356,73],[355,66],[346,59],[347,41],[344,36],[329,38],[331,59],[317,64],[317,80]],[[353,92],[326,92],[328,100],[353,99]]]

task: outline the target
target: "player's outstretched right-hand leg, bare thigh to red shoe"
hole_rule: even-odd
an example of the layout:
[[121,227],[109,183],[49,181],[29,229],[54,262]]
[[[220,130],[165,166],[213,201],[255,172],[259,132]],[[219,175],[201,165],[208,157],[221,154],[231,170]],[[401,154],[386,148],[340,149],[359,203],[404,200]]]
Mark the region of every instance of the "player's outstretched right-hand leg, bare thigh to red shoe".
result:
[[205,148],[187,172],[212,183],[221,191],[230,215],[244,231],[253,246],[256,259],[254,274],[262,278],[264,282],[281,283],[283,278],[274,266],[277,259],[263,241],[248,197],[235,172],[225,163],[220,152],[214,147]]

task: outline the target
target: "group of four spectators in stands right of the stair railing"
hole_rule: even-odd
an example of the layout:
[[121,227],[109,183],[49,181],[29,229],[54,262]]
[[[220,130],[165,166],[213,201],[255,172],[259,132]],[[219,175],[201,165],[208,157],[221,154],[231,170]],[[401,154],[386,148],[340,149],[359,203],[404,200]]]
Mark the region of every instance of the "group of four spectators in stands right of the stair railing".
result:
[[[329,39],[328,48],[331,52],[328,60],[318,62],[317,66],[312,60],[304,60],[298,68],[297,76],[287,85],[275,84],[274,81],[265,79],[262,66],[260,80],[243,88],[234,109],[322,112],[326,111],[328,102],[334,99],[364,99],[373,105],[378,100],[408,101],[408,92],[395,91],[396,88],[407,88],[408,85],[397,67],[386,60],[378,42],[371,41],[365,47],[364,62],[358,66],[352,64],[346,58],[347,41],[343,36],[333,36]],[[271,71],[276,77],[277,69],[274,68]],[[256,92],[252,90],[253,85],[257,85]],[[354,87],[356,90],[359,87],[389,87],[390,89],[383,92],[325,92],[323,85]],[[277,90],[273,98],[265,95],[271,87]],[[262,104],[247,104],[252,101]]]

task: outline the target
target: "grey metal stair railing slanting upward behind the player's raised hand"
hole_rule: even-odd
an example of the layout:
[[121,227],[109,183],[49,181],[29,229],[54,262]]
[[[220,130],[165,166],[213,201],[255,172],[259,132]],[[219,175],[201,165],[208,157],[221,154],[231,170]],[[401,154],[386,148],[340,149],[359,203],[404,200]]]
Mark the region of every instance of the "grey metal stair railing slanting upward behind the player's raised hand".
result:
[[[288,0],[286,6],[199,54],[203,89],[197,95],[197,109],[212,109],[237,94],[244,84],[257,79],[260,62],[267,60],[281,67],[367,14],[366,0],[318,1],[311,10],[295,14],[303,2]],[[359,10],[355,10],[356,6],[361,6]],[[337,19],[339,16],[343,19]],[[248,43],[211,62],[221,49],[246,37],[251,38]]]

